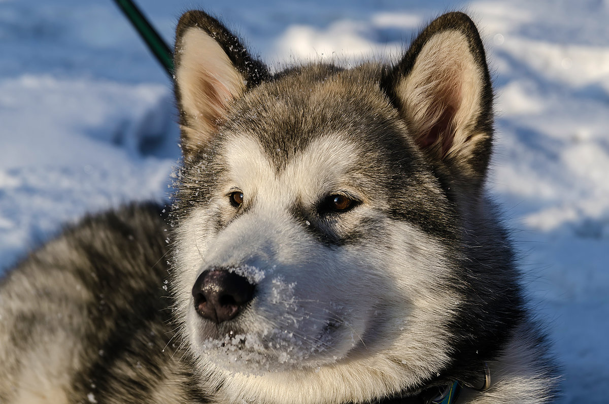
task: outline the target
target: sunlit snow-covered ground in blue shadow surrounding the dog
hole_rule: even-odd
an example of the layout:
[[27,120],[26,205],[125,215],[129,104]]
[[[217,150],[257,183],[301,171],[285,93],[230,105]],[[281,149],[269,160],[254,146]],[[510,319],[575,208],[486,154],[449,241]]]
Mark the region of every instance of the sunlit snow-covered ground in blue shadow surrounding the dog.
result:
[[[139,0],[168,41],[192,1]],[[395,54],[468,10],[498,94],[490,190],[565,368],[565,402],[609,388],[609,1],[245,0],[205,7],[273,65]],[[110,0],[0,0],[0,271],[62,223],[162,200],[171,83]]]

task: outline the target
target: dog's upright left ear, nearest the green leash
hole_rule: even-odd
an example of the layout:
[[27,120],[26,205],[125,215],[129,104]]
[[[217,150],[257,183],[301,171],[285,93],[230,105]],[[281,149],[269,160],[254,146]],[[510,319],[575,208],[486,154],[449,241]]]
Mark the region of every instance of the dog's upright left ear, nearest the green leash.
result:
[[175,33],[175,95],[185,157],[205,146],[231,104],[269,76],[216,19],[192,10]]

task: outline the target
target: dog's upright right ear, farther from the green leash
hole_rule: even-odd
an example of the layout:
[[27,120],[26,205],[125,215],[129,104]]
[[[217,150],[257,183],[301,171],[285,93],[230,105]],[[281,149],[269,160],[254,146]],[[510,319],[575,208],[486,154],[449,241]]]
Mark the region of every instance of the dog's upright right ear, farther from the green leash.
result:
[[491,152],[493,94],[473,21],[459,12],[435,19],[383,86],[432,162],[479,185]]

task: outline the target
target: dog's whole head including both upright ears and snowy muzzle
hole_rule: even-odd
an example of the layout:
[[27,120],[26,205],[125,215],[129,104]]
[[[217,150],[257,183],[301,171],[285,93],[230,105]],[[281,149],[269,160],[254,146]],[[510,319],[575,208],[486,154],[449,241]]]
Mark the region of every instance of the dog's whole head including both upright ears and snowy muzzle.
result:
[[461,229],[490,147],[471,21],[434,21],[392,69],[270,77],[189,12],[176,55],[174,288],[212,383],[231,379],[233,399],[341,402],[442,371],[466,299]]

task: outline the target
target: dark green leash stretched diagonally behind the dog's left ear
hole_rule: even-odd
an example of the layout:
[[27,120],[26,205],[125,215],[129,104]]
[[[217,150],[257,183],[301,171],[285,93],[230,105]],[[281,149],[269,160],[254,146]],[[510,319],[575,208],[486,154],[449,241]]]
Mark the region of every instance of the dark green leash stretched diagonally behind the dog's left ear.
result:
[[129,19],[139,36],[144,40],[150,52],[157,58],[170,79],[174,80],[174,52],[161,38],[157,30],[149,23],[138,7],[131,0],[114,0],[116,5]]

